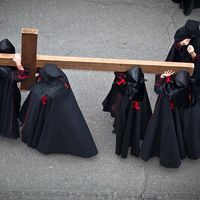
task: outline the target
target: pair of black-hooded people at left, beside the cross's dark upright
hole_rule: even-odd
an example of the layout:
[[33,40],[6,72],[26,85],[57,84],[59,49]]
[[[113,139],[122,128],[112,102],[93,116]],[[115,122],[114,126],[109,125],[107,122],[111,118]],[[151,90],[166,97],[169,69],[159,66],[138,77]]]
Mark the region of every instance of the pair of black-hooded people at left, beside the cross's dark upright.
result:
[[[0,53],[15,53],[8,39],[0,42]],[[17,83],[26,78],[26,68],[0,67],[0,135],[18,138],[21,133],[23,142],[44,154],[95,156],[98,150],[64,72],[53,64],[38,69],[20,108]]]

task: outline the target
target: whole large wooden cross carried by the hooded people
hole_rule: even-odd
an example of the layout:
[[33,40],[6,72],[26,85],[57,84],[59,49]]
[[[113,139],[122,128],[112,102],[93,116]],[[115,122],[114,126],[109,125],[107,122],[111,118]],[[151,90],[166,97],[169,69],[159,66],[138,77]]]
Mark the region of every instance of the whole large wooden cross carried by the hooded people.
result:
[[[175,72],[184,69],[192,73],[194,64],[183,62],[145,61],[129,59],[86,58],[69,56],[37,55],[37,29],[22,29],[22,65],[29,67],[31,75],[22,84],[28,89],[34,82],[36,66],[43,67],[47,63],[56,64],[63,69],[99,70],[124,72],[133,66],[140,66],[144,73],[163,73],[167,69]],[[36,56],[37,55],[37,56]],[[0,65],[14,66],[12,54],[0,54]]]

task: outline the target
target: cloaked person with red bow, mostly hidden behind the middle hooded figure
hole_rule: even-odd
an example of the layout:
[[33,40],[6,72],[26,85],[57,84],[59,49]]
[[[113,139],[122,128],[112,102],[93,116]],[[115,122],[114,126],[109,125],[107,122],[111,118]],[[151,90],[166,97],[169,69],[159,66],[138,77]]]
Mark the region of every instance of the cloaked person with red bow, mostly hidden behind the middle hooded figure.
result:
[[115,72],[114,74],[115,79],[112,83],[112,87],[102,103],[103,111],[110,112],[111,117],[114,117],[118,110],[119,102],[126,85],[126,77],[123,72]]

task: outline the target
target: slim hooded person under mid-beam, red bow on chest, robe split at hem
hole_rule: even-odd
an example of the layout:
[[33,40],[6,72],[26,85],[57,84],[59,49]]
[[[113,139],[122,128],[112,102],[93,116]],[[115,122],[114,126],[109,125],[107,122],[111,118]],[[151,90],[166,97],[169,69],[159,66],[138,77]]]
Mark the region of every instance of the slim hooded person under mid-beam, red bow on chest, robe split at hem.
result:
[[126,158],[128,149],[139,156],[140,140],[143,139],[151,117],[151,107],[140,67],[126,72],[126,87],[115,116],[116,154]]

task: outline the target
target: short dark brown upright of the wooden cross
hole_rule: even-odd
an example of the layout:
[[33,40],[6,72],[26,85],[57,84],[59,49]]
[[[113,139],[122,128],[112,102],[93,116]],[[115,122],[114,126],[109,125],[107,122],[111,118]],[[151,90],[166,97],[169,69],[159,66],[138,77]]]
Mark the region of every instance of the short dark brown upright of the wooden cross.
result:
[[21,89],[28,90],[35,81],[37,60],[38,29],[22,28],[21,58],[22,66],[29,68],[30,76],[21,84]]

